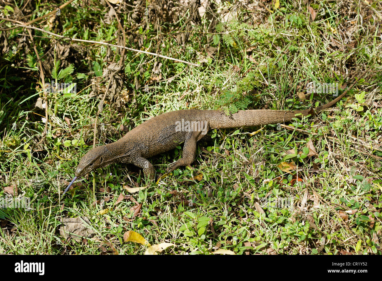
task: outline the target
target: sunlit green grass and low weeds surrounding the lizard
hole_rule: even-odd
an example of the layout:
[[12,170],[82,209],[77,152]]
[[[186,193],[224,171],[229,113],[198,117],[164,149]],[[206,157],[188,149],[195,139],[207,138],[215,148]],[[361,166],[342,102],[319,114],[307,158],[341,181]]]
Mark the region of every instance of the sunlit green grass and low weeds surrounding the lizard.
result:
[[[99,84],[98,94],[91,94],[92,86],[85,87],[102,73],[95,62],[106,68],[115,49],[108,53],[100,46],[85,47],[87,54],[78,55],[77,63],[73,58],[60,58],[60,69],[73,63],[71,79],[78,83],[78,94],[49,94],[50,119],[42,145],[36,145],[44,130],[41,118],[45,117],[44,110],[34,107],[37,97],[43,97],[41,88],[36,88],[36,55],[33,49],[23,49],[29,55],[28,65],[21,50],[3,54],[0,187],[16,185],[19,196],[31,198],[33,210],[0,209],[0,252],[111,254],[110,245],[105,244],[110,242],[120,254],[142,254],[146,247],[123,242],[123,234],[133,230],[151,244],[175,244],[165,250],[172,254],[207,254],[217,248],[237,254],[246,250],[252,254],[381,254],[382,77],[378,16],[372,12],[361,23],[359,18],[349,16],[341,3],[317,3],[312,4],[316,11],[320,10],[315,21],[310,20],[306,6],[299,10],[285,1],[272,14],[239,6],[228,23],[220,23],[212,30],[210,21],[202,18],[192,26],[184,45],[176,41],[176,36],[190,24],[189,11],[179,13],[178,19],[170,23],[160,21],[157,26],[155,21],[149,21],[138,27],[129,13],[117,12],[125,30],[131,30],[126,33],[126,46],[149,48],[150,52],[201,62],[201,66],[126,51],[124,63],[128,67],[120,73],[121,88],[131,99],[115,108],[115,100],[106,98],[98,118],[99,144],[121,138],[125,134],[120,130],[122,124],[131,129],[171,110],[308,109],[334,97],[307,94],[307,100],[301,100],[298,93],[306,94],[306,83],[343,85],[353,73],[360,74],[370,67],[346,101],[343,99],[318,116],[293,122],[291,126],[298,130],[267,125],[253,135],[249,133],[260,128],[211,131],[209,138],[198,143],[194,169],[177,169],[159,184],[150,183],[133,194],[123,186],[145,186],[140,169],[114,164],[78,180],[78,188],[61,197],[66,187],[63,180],[73,177],[79,159],[92,147],[95,116],[107,78]],[[224,5],[232,8],[227,2]],[[265,5],[273,10],[270,3]],[[366,17],[365,6],[354,5],[354,13]],[[118,44],[116,38],[121,34],[117,21],[113,18],[112,24],[100,23],[104,7],[95,7],[71,6],[67,8],[70,15],[63,9],[60,34]],[[381,6],[373,8],[381,13]],[[46,11],[44,5],[37,10],[36,18]],[[253,23],[253,16],[257,23]],[[377,28],[373,31],[372,26]],[[354,47],[340,40],[348,38],[341,34],[349,30],[351,39],[356,40]],[[21,29],[9,32],[10,38],[16,39]],[[45,54],[52,40],[42,32],[34,35],[44,37],[34,40],[40,55]],[[331,37],[339,45],[331,45]],[[209,47],[216,48],[212,57],[207,54],[207,50],[211,53]],[[119,56],[114,62],[119,61]],[[57,54],[55,57],[50,53],[44,59],[54,62],[55,58],[58,60]],[[148,84],[155,62],[162,63],[160,80],[180,74],[171,82]],[[45,79],[53,78],[45,73]],[[352,82],[347,81],[347,86]],[[148,91],[144,90],[146,84]],[[364,98],[356,99],[358,91],[365,91]],[[70,119],[70,126],[65,117]],[[316,157],[308,156],[309,140],[317,151]],[[157,175],[162,175],[167,165],[180,157],[178,147],[150,160]],[[282,162],[289,163],[289,172],[282,171]],[[194,179],[197,175],[202,177]],[[133,216],[130,209],[136,203],[129,199],[115,205],[120,193],[142,203],[140,215]],[[5,195],[0,188],[0,199]],[[259,208],[265,197],[270,198],[270,204]],[[93,204],[96,200],[100,200],[99,204]],[[196,206],[184,206],[182,200],[192,200]],[[290,205],[274,206],[272,200],[289,200]],[[99,211],[106,208],[109,211],[100,215]],[[341,213],[347,219],[341,217],[340,211],[352,210]],[[93,238],[74,243],[63,239],[58,231],[60,219],[76,216],[91,221],[96,233]],[[209,219],[213,220],[216,235],[210,230]]]

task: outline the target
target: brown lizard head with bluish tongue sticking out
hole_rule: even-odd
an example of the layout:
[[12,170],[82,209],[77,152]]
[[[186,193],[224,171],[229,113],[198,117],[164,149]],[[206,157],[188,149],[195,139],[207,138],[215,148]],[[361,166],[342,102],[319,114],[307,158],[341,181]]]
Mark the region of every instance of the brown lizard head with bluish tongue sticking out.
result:
[[91,171],[101,168],[104,166],[107,166],[107,155],[108,153],[105,153],[107,151],[107,148],[105,146],[97,146],[90,151],[88,151],[79,161],[79,164],[76,169],[76,173],[74,174],[75,177],[70,182],[68,187],[66,187],[64,193],[69,190],[69,187],[73,184],[74,180],[76,180],[79,177],[82,177],[83,175],[86,175],[90,173]]

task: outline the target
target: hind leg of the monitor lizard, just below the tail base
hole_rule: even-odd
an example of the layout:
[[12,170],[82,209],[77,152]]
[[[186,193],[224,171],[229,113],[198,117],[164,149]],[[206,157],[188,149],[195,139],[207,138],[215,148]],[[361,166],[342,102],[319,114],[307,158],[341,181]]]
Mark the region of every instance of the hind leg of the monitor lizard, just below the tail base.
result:
[[176,168],[180,166],[191,167],[190,165],[195,159],[196,142],[204,136],[202,132],[208,132],[209,124],[207,121],[205,122],[205,126],[206,126],[204,127],[205,130],[203,131],[199,130],[199,131],[187,133],[185,145],[183,145],[183,157],[171,163],[170,165],[168,165],[167,172],[174,171]]

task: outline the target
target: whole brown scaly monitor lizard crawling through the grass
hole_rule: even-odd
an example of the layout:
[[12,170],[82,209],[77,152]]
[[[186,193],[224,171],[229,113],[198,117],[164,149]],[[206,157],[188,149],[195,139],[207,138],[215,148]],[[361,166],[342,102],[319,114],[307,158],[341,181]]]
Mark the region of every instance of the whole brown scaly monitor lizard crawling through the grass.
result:
[[[235,114],[226,115],[219,110],[188,109],[160,114],[135,127],[118,141],[91,149],[81,158],[75,176],[78,178],[94,169],[116,162],[123,162],[132,163],[142,168],[146,179],[152,180],[154,179],[155,169],[147,158],[185,143],[183,157],[171,163],[167,171],[173,171],[180,166],[190,166],[195,159],[196,142],[203,137],[203,129],[208,131],[221,128],[263,126],[289,122],[295,117],[301,118],[308,114],[314,115],[320,110],[333,106],[345,96],[349,89],[353,88],[355,83],[356,81],[336,99],[317,107],[315,110],[240,110]],[[181,122],[182,119],[189,122],[203,122],[205,127],[188,132],[175,130],[176,122]]]

